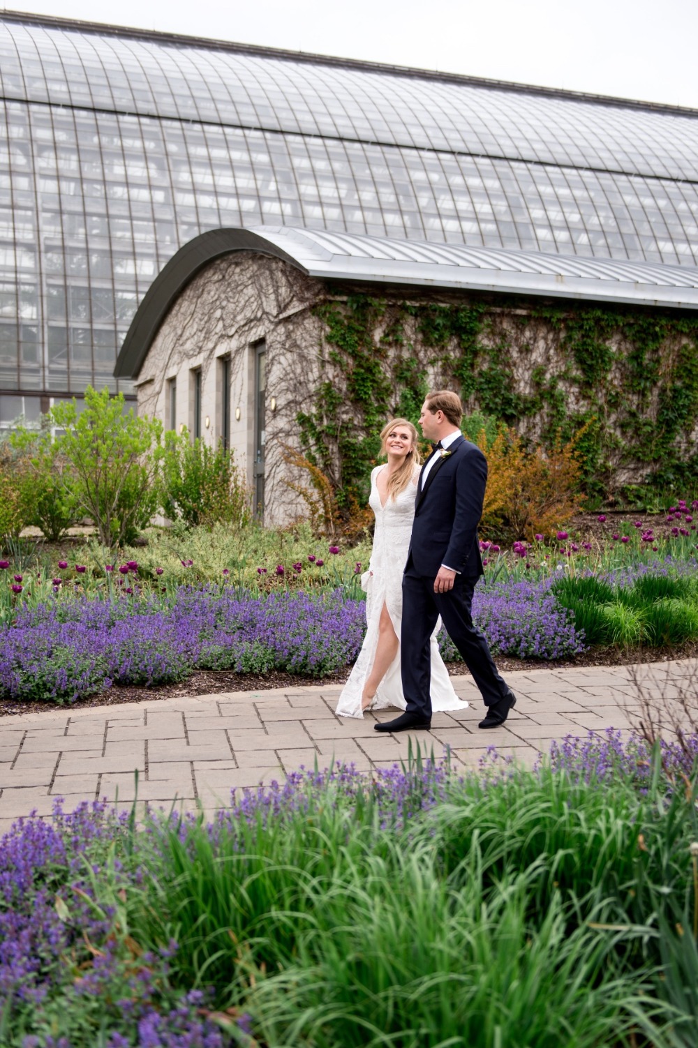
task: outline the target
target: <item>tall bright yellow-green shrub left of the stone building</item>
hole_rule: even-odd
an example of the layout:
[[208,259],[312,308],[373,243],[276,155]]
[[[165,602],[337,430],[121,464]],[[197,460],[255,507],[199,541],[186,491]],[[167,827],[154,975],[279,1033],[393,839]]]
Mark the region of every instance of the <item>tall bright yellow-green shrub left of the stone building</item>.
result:
[[57,454],[68,463],[64,489],[110,547],[132,542],[158,501],[162,423],[124,408],[122,393],[110,397],[108,390],[88,386],[80,415],[73,399],[54,405],[49,416],[64,431],[56,440]]

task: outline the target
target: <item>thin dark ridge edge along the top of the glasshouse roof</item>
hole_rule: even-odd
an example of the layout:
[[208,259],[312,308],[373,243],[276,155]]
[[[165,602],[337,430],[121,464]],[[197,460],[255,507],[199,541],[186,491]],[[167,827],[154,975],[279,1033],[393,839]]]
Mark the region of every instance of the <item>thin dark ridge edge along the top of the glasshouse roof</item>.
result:
[[562,87],[543,87],[540,84],[519,84],[516,81],[490,80],[487,77],[471,77],[467,73],[446,72],[439,69],[421,69],[415,66],[391,65],[386,62],[371,62],[366,59],[346,59],[333,54],[317,54],[313,51],[290,51],[281,47],[264,47],[261,44],[240,44],[232,41],[215,40],[210,37],[158,32],[155,29],[139,29],[131,26],[114,25],[110,22],[88,22],[71,18],[61,18],[54,15],[37,15],[35,13],[9,9],[0,12],[0,21],[42,25],[56,29],[73,29],[78,32],[92,32],[102,36],[131,37],[136,40],[174,44],[179,47],[205,47],[218,51],[237,51],[243,54],[282,59],[290,62],[309,62],[313,65],[343,66],[347,69],[364,69],[371,72],[414,77],[418,80],[441,80],[452,84],[468,84],[472,87],[515,91],[519,94],[541,94],[551,99],[591,102],[605,106],[616,106],[620,109],[646,109],[673,113],[676,116],[698,115],[696,107],[677,106],[666,102],[623,99],[613,94],[594,94],[588,91],[566,90]]

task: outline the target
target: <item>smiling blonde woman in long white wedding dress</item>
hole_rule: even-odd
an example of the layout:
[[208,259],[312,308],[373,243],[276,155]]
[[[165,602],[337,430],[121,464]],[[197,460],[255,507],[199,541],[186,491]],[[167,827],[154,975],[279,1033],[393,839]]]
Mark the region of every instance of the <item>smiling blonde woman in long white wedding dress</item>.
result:
[[[366,709],[397,706],[405,709],[400,677],[400,625],[402,571],[410,549],[414,501],[419,479],[417,431],[405,418],[395,418],[380,433],[386,465],[371,472],[369,505],[375,514],[373,549],[368,571],[362,576],[366,590],[366,637],[336,713],[363,717]],[[432,707],[464,709],[449,678],[436,642],[441,620],[432,634]]]

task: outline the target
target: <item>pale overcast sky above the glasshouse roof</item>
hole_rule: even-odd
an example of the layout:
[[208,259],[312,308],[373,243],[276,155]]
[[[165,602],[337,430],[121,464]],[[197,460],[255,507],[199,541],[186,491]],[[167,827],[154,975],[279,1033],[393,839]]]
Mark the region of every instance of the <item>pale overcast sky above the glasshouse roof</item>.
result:
[[698,108],[698,0],[18,0],[18,6]]

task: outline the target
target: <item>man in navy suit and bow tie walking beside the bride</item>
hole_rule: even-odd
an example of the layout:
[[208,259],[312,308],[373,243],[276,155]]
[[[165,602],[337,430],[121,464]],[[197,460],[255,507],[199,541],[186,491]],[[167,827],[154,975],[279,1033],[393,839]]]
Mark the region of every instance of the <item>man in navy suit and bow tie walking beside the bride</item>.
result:
[[482,693],[487,712],[479,726],[503,724],[516,703],[471,616],[473,592],[483,574],[477,529],[487,463],[480,449],[461,436],[462,415],[460,398],[450,390],[430,393],[421,409],[419,425],[434,441],[434,451],[417,484],[402,576],[400,650],[407,709],[395,720],[376,724],[376,732],[431,727],[430,637],[439,615]]

